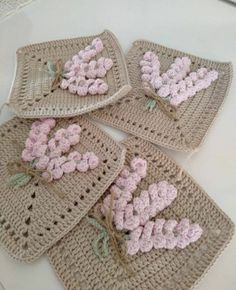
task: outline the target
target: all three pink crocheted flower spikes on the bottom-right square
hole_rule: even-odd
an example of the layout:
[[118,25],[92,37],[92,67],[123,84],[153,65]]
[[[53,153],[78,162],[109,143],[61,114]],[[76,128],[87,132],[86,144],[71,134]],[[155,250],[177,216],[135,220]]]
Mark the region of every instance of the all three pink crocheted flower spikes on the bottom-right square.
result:
[[133,193],[147,173],[147,162],[134,158],[130,167],[125,167],[101,205],[106,216],[110,211],[111,194],[114,195],[112,217],[117,230],[128,231],[127,253],[148,252],[151,249],[184,248],[198,240],[202,229],[198,224],[190,224],[188,219],[179,223],[175,220],[153,218],[168,207],[177,197],[177,189],[167,181],[160,181],[142,190],[138,197]]

